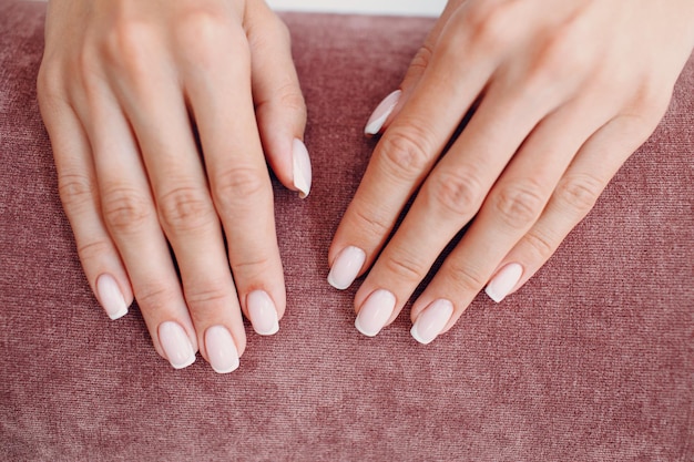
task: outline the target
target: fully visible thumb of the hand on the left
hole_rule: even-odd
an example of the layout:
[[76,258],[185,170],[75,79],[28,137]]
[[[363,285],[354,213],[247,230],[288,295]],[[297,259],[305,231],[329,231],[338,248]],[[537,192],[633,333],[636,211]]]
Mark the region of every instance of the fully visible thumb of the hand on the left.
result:
[[246,9],[246,32],[265,155],[282,184],[305,198],[312,185],[310,160],[303,142],[306,103],[292,60],[289,31],[265,2],[252,2]]

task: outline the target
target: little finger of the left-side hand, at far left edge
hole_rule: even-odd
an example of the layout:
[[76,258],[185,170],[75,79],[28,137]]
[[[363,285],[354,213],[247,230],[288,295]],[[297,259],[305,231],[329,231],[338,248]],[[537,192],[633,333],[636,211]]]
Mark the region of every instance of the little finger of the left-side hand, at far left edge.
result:
[[64,100],[53,97],[48,84],[40,83],[39,88],[60,197],[72,226],[80,261],[106,315],[111,319],[121,318],[127,314],[133,292],[118,249],[101,219],[91,146],[72,107]]

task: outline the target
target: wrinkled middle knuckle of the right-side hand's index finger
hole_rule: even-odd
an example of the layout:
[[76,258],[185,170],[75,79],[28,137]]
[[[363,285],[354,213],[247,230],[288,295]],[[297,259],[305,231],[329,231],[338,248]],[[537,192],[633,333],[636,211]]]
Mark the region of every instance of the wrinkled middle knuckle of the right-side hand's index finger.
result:
[[431,135],[416,123],[388,132],[379,145],[384,172],[398,181],[418,179],[433,157],[428,140]]

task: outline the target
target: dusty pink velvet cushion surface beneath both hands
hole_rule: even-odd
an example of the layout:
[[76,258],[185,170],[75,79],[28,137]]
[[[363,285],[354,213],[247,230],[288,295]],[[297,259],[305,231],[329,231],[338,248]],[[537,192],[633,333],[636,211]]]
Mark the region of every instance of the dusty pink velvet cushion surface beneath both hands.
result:
[[288,310],[241,369],[173,370],[76,257],[35,101],[44,6],[0,4],[0,460],[694,461],[694,61],[651,140],[532,281],[423,347],[354,329],[327,248],[430,19],[286,14],[307,201],[275,184]]

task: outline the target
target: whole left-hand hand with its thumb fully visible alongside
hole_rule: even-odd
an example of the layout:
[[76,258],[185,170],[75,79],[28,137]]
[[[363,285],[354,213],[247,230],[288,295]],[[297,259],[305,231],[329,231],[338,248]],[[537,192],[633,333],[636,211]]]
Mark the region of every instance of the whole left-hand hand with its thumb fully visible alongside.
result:
[[241,311],[272,335],[286,304],[266,158],[285,186],[310,188],[284,23],[262,0],[53,0],[38,91],[106,314],[134,297],[174,368],[200,349],[234,370]]

